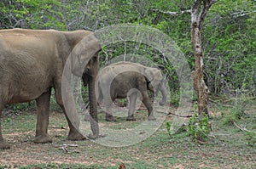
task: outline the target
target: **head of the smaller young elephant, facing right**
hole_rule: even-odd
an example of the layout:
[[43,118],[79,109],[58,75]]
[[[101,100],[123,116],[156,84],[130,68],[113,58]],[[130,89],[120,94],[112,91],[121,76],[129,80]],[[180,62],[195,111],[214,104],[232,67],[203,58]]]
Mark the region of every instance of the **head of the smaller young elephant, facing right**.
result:
[[166,104],[166,81],[161,71],[156,68],[146,67],[145,76],[148,82],[148,89],[155,92],[156,95],[160,92],[162,94],[160,105]]

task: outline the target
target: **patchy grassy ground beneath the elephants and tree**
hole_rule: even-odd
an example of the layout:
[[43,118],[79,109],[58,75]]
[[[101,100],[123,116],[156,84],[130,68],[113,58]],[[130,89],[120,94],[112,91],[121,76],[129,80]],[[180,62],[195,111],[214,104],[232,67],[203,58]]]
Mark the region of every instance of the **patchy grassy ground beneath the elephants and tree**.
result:
[[[239,127],[256,131],[256,107],[247,109],[248,117],[236,121]],[[0,150],[0,168],[256,168],[255,138],[238,127],[224,123],[229,109],[212,108],[212,135],[207,142],[196,141],[180,132],[171,137],[165,123],[157,132],[140,142],[111,148],[90,140],[68,141],[67,122],[60,112],[51,112],[49,134],[53,144],[34,144],[34,112],[3,116],[3,137],[11,149]],[[147,113],[137,113],[137,121],[105,122],[104,127],[133,127]],[[172,121],[167,116],[166,121]]]

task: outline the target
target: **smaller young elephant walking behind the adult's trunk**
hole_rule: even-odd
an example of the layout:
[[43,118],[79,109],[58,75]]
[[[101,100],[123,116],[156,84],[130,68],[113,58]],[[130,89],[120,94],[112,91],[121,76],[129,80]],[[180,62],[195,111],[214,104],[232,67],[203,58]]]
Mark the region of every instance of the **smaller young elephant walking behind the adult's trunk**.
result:
[[130,105],[127,121],[135,121],[133,115],[138,92],[142,94],[143,104],[148,109],[148,120],[155,120],[153,107],[148,98],[148,90],[162,94],[160,105],[166,103],[165,80],[160,70],[132,62],[118,62],[105,67],[96,79],[98,102],[104,99],[106,121],[114,121],[110,106],[114,99],[129,97]]

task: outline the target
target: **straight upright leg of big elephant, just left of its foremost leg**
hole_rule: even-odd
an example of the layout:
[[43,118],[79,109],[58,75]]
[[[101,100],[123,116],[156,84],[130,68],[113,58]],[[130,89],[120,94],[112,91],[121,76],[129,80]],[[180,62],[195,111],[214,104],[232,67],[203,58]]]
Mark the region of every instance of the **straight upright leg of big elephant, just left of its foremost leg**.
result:
[[49,99],[50,89],[36,99],[38,107],[36,138],[34,143],[51,143],[52,138],[49,137],[47,130],[49,124]]

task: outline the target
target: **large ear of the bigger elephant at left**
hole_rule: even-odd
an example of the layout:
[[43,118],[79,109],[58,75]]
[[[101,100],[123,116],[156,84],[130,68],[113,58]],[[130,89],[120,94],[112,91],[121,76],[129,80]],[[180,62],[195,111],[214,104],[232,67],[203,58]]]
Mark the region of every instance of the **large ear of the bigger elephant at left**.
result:
[[101,44],[94,33],[85,36],[72,50],[71,63],[72,72],[76,76],[82,76],[84,68],[90,59],[101,50]]

